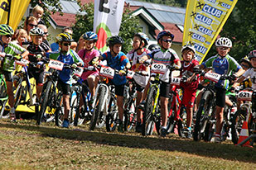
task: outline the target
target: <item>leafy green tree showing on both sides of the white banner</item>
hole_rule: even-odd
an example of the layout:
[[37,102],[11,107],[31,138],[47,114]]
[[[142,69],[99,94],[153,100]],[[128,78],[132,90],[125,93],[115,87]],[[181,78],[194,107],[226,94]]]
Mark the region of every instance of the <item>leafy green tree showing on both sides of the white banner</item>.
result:
[[[94,30],[94,3],[78,2],[80,6],[80,12],[86,12],[85,15],[76,14],[75,24],[72,26],[74,32],[74,40],[79,40],[80,35],[84,34],[86,31]],[[138,17],[133,17],[130,15],[128,9],[124,9],[122,22],[119,30],[119,36],[124,40],[122,51],[126,54],[132,49],[131,40],[136,32],[142,31],[139,26]]]

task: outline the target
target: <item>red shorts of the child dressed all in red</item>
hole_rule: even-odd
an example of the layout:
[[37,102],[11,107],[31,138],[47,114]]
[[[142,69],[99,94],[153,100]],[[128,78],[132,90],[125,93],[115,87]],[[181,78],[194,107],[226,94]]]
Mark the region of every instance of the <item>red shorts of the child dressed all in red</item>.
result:
[[193,107],[196,99],[196,90],[183,88],[183,97],[181,104],[186,107]]

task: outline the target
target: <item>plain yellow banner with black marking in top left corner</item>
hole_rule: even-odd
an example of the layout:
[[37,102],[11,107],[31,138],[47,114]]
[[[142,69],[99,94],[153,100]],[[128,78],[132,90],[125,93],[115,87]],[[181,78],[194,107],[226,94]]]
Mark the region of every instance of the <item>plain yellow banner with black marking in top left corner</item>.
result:
[[30,0],[0,0],[0,24],[12,26],[15,31],[29,2]]

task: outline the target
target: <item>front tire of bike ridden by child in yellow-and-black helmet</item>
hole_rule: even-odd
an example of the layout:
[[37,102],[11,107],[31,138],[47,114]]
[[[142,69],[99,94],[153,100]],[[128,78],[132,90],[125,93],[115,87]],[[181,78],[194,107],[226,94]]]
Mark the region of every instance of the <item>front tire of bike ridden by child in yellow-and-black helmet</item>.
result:
[[43,90],[41,92],[41,101],[42,101],[42,103],[41,103],[40,111],[37,115],[36,125],[41,125],[42,117],[44,116],[44,114],[46,112],[47,102],[49,100],[49,94],[50,94],[50,91],[51,91],[51,85],[52,85],[52,82],[49,81],[46,84],[46,87],[45,88],[43,87]]

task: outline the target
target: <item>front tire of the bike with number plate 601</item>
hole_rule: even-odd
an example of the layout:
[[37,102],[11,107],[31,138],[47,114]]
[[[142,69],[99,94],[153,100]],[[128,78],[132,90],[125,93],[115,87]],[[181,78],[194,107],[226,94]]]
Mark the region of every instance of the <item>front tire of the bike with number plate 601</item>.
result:
[[[142,135],[152,135],[152,109],[155,102],[155,97],[157,96],[157,87],[150,87],[147,93],[147,99],[145,103],[145,111],[143,112],[143,121],[142,121]],[[154,122],[153,122],[154,124]]]

